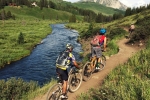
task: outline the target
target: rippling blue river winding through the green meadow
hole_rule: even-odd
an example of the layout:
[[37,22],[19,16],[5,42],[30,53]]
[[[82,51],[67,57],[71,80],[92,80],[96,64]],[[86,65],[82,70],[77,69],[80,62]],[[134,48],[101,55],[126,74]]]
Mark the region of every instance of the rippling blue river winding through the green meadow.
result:
[[65,24],[53,24],[52,33],[37,45],[32,53],[16,62],[6,65],[0,70],[0,79],[11,77],[22,78],[25,81],[37,81],[40,85],[56,76],[55,61],[67,43],[74,46],[73,54],[77,61],[81,45],[77,43],[78,32],[65,28]]

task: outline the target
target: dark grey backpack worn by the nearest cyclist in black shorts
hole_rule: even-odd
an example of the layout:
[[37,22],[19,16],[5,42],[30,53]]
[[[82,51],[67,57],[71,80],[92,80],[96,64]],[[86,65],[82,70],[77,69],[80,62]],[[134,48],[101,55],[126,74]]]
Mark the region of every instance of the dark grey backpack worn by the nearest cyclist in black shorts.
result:
[[66,68],[68,65],[68,58],[69,58],[69,52],[67,51],[61,52],[56,60],[56,65]]

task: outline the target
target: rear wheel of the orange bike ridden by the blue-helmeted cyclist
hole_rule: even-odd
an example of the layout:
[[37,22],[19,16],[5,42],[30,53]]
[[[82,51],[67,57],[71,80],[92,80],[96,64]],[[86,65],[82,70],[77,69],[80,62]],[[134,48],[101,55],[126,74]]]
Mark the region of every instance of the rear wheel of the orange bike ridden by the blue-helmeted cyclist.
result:
[[89,79],[91,79],[91,76],[92,76],[91,64],[90,64],[90,62],[87,62],[83,66],[83,71],[82,71],[83,80],[88,81]]

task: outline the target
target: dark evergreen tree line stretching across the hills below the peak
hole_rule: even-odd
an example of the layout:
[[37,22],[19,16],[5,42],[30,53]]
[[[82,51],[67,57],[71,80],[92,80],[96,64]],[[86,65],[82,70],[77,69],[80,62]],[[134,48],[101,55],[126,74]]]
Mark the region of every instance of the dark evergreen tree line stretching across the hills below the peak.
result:
[[[41,10],[43,8],[52,8],[52,9],[62,10],[62,11],[67,11],[67,12],[72,13],[73,15],[71,16],[71,18],[69,18],[70,22],[75,22],[75,19],[76,19],[74,18],[75,15],[84,16],[84,21],[86,22],[93,22],[93,21],[96,23],[110,22],[112,20],[130,16],[132,14],[139,13],[143,10],[150,9],[150,5],[147,5],[147,7],[142,6],[142,7],[133,8],[133,9],[127,8],[124,15],[121,13],[115,13],[113,15],[106,16],[106,15],[103,15],[102,13],[96,14],[92,10],[81,9],[81,8],[75,7],[71,3],[64,2],[62,0],[0,0],[0,9],[3,9],[5,6],[8,6],[10,4],[15,5],[15,6],[26,5],[28,7],[33,7],[31,5],[33,2],[36,2],[37,6],[39,6]],[[1,15],[0,20],[2,20],[3,16],[6,14],[4,12],[1,12],[0,15]]]

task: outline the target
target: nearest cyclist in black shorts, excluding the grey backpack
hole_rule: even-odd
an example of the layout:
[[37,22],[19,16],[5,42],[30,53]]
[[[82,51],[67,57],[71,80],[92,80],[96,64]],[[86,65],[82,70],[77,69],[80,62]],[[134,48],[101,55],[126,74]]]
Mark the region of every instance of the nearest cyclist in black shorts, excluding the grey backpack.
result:
[[66,66],[60,66],[56,63],[56,72],[60,76],[63,86],[62,86],[62,95],[61,98],[67,99],[67,85],[68,85],[68,66],[75,66],[76,68],[79,69],[79,66],[75,60],[75,56],[72,54],[73,51],[73,46],[70,43],[67,43],[66,45],[66,50],[64,52],[68,53],[68,58],[67,58],[67,65]]

